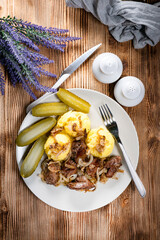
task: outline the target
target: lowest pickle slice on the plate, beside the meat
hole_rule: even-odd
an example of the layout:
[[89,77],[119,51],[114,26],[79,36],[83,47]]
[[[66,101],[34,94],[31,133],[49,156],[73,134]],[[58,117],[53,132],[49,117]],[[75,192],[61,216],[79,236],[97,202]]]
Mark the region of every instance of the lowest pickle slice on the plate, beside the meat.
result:
[[36,170],[38,163],[44,154],[44,144],[46,140],[47,136],[43,135],[38,138],[31,147],[29,153],[21,165],[20,174],[23,178],[31,176],[32,173]]

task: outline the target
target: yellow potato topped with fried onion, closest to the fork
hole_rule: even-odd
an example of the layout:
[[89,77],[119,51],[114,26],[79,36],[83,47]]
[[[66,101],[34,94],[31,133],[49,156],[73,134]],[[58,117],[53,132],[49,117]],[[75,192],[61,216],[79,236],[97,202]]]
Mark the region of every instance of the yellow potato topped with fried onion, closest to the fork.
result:
[[104,127],[91,129],[86,139],[87,147],[94,157],[108,157],[114,148],[114,138]]

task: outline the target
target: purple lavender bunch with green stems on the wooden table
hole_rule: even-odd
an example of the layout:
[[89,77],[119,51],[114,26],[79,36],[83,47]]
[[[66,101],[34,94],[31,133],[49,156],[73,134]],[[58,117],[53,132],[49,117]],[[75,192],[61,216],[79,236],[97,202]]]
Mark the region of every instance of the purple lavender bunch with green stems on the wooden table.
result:
[[[24,22],[21,19],[0,18],[0,64],[8,72],[13,86],[21,83],[23,88],[36,99],[32,87],[44,92],[54,92],[54,89],[43,86],[37,76],[46,75],[56,77],[41,66],[53,63],[39,53],[38,45],[64,51],[66,43],[79,38],[68,37],[68,30],[46,28]],[[0,91],[5,92],[5,79],[0,69]]]

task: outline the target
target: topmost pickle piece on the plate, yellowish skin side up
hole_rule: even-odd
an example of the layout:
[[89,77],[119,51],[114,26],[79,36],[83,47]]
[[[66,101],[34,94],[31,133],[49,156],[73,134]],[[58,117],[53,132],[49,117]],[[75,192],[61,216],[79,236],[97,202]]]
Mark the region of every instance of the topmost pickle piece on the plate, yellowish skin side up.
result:
[[74,93],[71,93],[66,89],[60,88],[59,91],[57,92],[57,96],[62,102],[67,104],[69,107],[72,107],[77,111],[89,113],[91,105],[87,101],[75,95]]

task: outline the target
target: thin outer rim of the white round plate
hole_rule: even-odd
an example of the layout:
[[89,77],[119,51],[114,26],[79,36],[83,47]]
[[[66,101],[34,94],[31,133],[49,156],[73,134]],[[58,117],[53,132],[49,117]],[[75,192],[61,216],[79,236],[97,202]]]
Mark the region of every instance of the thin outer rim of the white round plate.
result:
[[[136,165],[135,165],[135,167],[134,167],[134,169],[136,170],[137,169],[137,166],[138,166],[138,163],[139,163],[139,138],[138,138],[138,134],[137,134],[137,131],[136,131],[136,127],[135,127],[135,125],[134,125],[134,123],[133,123],[133,121],[132,121],[132,119],[130,118],[130,116],[129,116],[129,114],[123,109],[123,107],[118,103],[118,102],[116,102],[116,100],[114,100],[114,99],[112,99],[111,97],[109,97],[108,95],[106,95],[106,94],[104,94],[104,93],[102,93],[102,92],[99,92],[99,91],[96,91],[96,90],[93,90],[93,89],[84,89],[84,88],[67,88],[67,90],[82,90],[82,91],[89,91],[89,92],[96,92],[96,93],[98,93],[98,94],[100,94],[100,95],[103,95],[105,98],[109,98],[112,102],[114,102],[118,107],[120,107],[121,108],[121,110],[127,115],[127,117],[128,117],[128,120],[130,121],[130,123],[132,124],[132,126],[133,126],[133,128],[134,128],[134,132],[135,132],[135,136],[136,136],[136,140],[137,140],[137,153],[138,153],[138,155],[137,155],[137,163],[136,163]],[[53,93],[53,95],[56,95],[56,92],[55,93]],[[49,95],[48,97],[50,97],[51,95]],[[47,99],[47,98],[46,98]],[[43,101],[41,102],[41,103],[43,103]],[[39,104],[39,103],[38,103]],[[21,126],[23,125],[23,123],[24,123],[24,121],[26,120],[26,118],[27,118],[27,116],[30,114],[30,112],[28,112],[26,115],[25,115],[25,117],[24,117],[24,119],[23,119],[23,121],[22,121],[22,123],[21,123],[21,125],[20,125],[20,127],[19,127],[19,130],[18,130],[18,133],[21,131]],[[41,118],[43,118],[43,117],[41,117]],[[41,119],[40,118],[40,119]],[[18,169],[19,169],[19,162],[18,162],[18,159],[17,159],[17,155],[18,155],[18,149],[19,149],[20,147],[19,146],[17,146],[16,145],[16,162],[17,162],[17,165],[18,165]],[[19,169],[20,170],[20,169]],[[19,173],[20,174],[20,173]],[[21,177],[22,178],[22,177]],[[129,186],[129,184],[131,183],[131,180],[132,180],[132,178],[130,178],[130,180],[128,181],[128,184],[127,184],[127,186],[124,188],[124,190],[118,195],[118,196],[116,196],[116,197],[114,197],[111,201],[109,201],[107,204],[103,204],[102,206],[100,206],[100,207],[96,207],[96,208],[92,208],[92,209],[89,209],[89,210],[67,210],[67,209],[63,209],[63,207],[62,208],[58,208],[58,207],[55,207],[55,206],[51,206],[49,203],[46,203],[44,200],[42,200],[40,197],[38,197],[37,196],[37,194],[36,193],[34,193],[30,188],[29,188],[29,186],[27,185],[27,183],[25,182],[25,179],[24,178],[22,178],[22,180],[23,180],[23,182],[25,183],[25,185],[27,186],[27,188],[31,191],[31,193],[34,195],[34,196],[36,196],[40,201],[42,201],[43,203],[45,203],[45,204],[47,204],[48,206],[50,206],[50,207],[53,207],[53,208],[55,208],[55,209],[58,209],[58,210],[61,210],[61,211],[67,211],[67,212],[89,212],[89,211],[94,211],[94,210],[97,210],[97,209],[100,209],[100,208],[102,208],[102,207],[105,207],[105,206],[107,206],[108,204],[110,204],[111,202],[113,202],[115,199],[117,199],[126,189],[127,189],[127,187]]]

